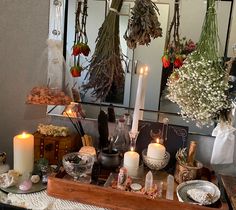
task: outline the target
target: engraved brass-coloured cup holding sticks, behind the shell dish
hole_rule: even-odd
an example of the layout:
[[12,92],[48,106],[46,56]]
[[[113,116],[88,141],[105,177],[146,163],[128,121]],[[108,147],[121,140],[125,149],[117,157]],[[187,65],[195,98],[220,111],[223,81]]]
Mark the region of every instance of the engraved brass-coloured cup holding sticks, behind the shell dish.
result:
[[175,181],[178,183],[182,183],[189,180],[198,179],[201,177],[201,169],[203,164],[199,161],[194,162],[195,166],[188,166],[180,163],[179,161],[176,162],[175,168]]

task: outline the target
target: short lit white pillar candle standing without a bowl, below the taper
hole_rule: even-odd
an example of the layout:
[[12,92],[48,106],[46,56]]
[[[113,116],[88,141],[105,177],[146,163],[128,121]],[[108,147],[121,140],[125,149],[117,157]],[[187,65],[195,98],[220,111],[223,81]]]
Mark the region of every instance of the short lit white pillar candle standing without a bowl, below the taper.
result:
[[135,151],[128,151],[124,154],[124,167],[127,168],[128,174],[134,174],[139,167],[139,154]]

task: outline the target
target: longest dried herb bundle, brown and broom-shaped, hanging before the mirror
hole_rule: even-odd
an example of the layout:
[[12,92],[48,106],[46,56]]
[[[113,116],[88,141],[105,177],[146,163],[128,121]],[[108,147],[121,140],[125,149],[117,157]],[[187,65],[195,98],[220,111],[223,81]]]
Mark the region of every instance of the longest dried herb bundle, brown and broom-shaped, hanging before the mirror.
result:
[[119,14],[123,0],[113,0],[111,9],[98,32],[95,52],[83,86],[87,91],[93,88],[96,99],[105,99],[112,84],[117,88],[124,86],[123,56],[120,49]]

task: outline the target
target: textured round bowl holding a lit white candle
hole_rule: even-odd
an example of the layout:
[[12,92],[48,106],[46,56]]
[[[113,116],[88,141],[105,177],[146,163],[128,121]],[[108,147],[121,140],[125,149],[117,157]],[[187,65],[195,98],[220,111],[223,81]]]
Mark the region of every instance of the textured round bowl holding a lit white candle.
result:
[[147,149],[143,150],[142,157],[144,164],[151,170],[161,170],[165,168],[170,160],[170,154],[168,152],[165,153],[162,159],[150,158],[147,156]]

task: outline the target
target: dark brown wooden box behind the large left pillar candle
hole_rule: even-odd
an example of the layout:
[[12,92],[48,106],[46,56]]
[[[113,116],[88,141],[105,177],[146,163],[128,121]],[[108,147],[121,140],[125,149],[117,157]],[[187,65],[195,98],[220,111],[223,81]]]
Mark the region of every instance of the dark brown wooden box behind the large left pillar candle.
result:
[[78,135],[66,137],[45,136],[34,133],[34,160],[46,158],[49,164],[57,164],[63,155],[69,152],[79,151],[81,139]]

